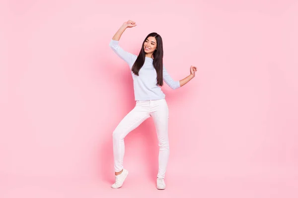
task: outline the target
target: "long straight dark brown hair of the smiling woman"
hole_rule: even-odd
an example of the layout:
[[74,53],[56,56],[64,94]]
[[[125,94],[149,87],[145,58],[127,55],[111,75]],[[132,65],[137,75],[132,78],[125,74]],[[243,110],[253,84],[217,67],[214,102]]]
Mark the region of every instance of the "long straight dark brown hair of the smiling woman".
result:
[[135,75],[139,76],[139,71],[142,68],[142,66],[144,65],[145,62],[145,56],[146,56],[146,52],[144,50],[144,43],[145,41],[148,39],[148,37],[155,37],[156,42],[157,42],[157,46],[156,46],[156,50],[154,50],[153,52],[153,66],[154,69],[156,70],[156,74],[157,74],[157,84],[159,86],[163,85],[163,77],[162,77],[162,68],[163,68],[163,62],[162,62],[162,58],[163,58],[163,47],[162,47],[162,39],[161,36],[155,32],[150,33],[144,40],[143,44],[142,44],[142,48],[140,50],[140,53],[137,57],[136,62],[134,63],[133,67],[132,67],[132,71]]

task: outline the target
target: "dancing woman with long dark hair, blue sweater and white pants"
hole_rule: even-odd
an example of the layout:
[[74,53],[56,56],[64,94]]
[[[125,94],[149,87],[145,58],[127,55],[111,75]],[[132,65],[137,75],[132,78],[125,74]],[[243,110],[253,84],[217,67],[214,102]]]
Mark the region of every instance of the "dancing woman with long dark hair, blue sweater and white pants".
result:
[[169,157],[168,143],[168,106],[161,91],[163,81],[172,89],[182,87],[195,77],[197,68],[190,67],[190,75],[180,81],[174,81],[162,63],[162,39],[157,33],[150,33],[143,42],[139,55],[123,50],[119,40],[126,28],[137,26],[134,21],[124,22],[116,32],[109,46],[131,69],[134,80],[136,106],[119,123],[113,132],[113,154],[115,183],[112,188],[120,188],[128,175],[123,168],[124,138],[147,118],[152,117],[158,137],[159,156],[157,189],[165,189],[164,175]]

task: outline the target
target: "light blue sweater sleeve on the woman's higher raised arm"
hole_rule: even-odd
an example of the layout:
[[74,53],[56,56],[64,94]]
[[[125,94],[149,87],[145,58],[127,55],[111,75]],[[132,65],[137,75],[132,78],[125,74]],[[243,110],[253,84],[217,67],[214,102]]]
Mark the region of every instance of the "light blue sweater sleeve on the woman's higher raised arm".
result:
[[119,46],[119,41],[115,41],[113,39],[110,41],[109,46],[121,59],[123,59],[125,62],[127,62],[127,64],[129,65],[130,68],[132,68],[133,64],[135,63],[135,61],[138,57],[137,55],[129,53],[129,52],[125,51],[124,49],[122,49]]

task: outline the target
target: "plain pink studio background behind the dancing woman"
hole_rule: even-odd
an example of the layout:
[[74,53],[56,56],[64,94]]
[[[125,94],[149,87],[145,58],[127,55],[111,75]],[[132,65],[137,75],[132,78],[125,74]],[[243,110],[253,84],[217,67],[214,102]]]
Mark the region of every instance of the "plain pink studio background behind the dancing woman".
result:
[[[2,0],[0,197],[294,198],[298,187],[297,0]],[[146,120],[125,139],[130,171],[113,190],[112,132],[134,107],[128,65],[163,38],[171,155]],[[295,36],[296,35],[296,36]]]

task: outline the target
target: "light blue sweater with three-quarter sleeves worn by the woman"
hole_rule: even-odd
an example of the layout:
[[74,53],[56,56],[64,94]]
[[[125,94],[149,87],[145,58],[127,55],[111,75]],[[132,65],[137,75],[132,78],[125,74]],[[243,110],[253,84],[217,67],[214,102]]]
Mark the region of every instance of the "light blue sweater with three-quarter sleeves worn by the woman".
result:
[[[123,50],[119,46],[119,41],[112,39],[109,46],[120,58],[127,62],[129,68],[132,69],[138,56]],[[135,100],[156,100],[165,98],[161,88],[157,85],[157,74],[153,67],[152,58],[145,57],[145,63],[139,71],[139,76],[135,75],[132,71],[131,73],[134,80]],[[164,82],[170,88],[174,90],[180,87],[179,81],[174,81],[171,78],[164,65],[162,75]]]

